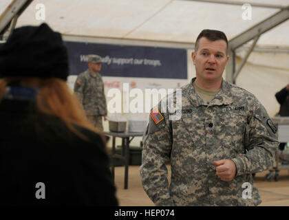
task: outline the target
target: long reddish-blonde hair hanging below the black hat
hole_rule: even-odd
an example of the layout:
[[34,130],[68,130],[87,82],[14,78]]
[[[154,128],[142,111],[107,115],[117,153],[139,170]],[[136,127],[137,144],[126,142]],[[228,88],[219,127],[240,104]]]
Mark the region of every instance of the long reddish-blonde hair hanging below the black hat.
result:
[[73,124],[92,130],[102,137],[103,134],[94,127],[86,118],[85,111],[75,94],[69,89],[64,80],[59,78],[36,78],[36,77],[6,77],[0,79],[0,101],[7,85],[17,82],[22,87],[38,87],[39,95],[36,100],[36,108],[46,115],[54,115],[60,118],[67,128],[78,137],[87,140],[87,137],[78,131]]

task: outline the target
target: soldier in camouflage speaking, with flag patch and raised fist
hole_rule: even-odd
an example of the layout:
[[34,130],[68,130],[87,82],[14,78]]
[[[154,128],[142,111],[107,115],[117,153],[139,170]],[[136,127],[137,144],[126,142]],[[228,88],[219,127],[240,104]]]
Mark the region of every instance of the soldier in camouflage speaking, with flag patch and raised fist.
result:
[[[171,113],[160,102],[150,113],[140,175],[156,206],[261,203],[252,173],[272,166],[277,126],[253,94],[222,79],[227,48],[223,32],[203,30],[192,54],[197,77],[182,87],[182,108]],[[170,120],[176,113],[180,120]]]

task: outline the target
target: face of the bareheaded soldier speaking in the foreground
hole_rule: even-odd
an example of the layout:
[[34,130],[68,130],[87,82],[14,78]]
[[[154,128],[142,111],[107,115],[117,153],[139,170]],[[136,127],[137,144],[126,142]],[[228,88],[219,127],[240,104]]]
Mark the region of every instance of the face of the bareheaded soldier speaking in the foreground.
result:
[[198,80],[203,83],[222,81],[222,74],[228,62],[226,41],[209,41],[202,37],[197,52],[192,53]]

